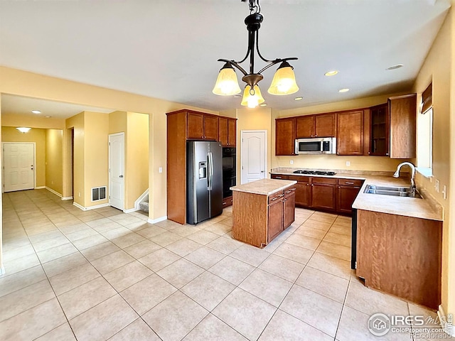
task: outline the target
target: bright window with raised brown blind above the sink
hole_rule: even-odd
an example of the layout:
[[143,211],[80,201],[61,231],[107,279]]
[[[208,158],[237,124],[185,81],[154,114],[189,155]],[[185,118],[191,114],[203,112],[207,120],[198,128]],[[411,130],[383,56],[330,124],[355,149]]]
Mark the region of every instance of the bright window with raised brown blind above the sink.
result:
[[421,110],[417,117],[417,168],[432,176],[433,168],[433,90],[432,83],[422,93]]

